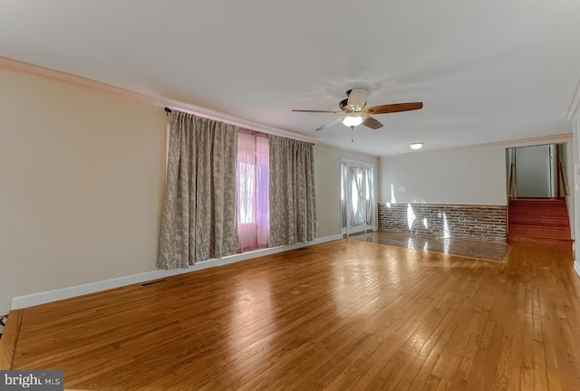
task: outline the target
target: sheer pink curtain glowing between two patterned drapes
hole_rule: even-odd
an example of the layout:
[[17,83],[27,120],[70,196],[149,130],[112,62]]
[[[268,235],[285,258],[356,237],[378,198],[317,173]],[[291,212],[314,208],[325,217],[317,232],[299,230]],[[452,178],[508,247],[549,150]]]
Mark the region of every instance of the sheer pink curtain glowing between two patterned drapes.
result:
[[237,235],[240,253],[268,247],[268,165],[267,136],[240,129],[237,137]]

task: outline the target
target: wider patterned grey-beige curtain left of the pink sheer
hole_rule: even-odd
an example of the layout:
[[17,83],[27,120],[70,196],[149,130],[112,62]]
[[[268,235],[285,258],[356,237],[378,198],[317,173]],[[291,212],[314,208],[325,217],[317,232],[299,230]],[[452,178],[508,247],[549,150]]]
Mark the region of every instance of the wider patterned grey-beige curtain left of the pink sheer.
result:
[[158,267],[237,253],[236,165],[236,126],[172,111]]

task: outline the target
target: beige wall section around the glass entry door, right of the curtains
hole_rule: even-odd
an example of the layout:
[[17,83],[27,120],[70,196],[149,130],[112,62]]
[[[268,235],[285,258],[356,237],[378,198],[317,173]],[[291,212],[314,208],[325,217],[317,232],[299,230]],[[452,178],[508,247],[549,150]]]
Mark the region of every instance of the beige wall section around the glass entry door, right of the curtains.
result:
[[320,223],[317,237],[341,234],[341,159],[372,165],[375,180],[374,199],[378,189],[378,159],[341,149],[314,145],[314,180],[316,183],[316,215]]

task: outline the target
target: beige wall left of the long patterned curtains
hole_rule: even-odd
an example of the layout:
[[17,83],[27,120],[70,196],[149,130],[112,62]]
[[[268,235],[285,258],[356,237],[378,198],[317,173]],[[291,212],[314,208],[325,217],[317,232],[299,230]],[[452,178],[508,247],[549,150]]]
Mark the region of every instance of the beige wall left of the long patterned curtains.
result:
[[159,107],[0,70],[0,313],[155,269],[164,148]]

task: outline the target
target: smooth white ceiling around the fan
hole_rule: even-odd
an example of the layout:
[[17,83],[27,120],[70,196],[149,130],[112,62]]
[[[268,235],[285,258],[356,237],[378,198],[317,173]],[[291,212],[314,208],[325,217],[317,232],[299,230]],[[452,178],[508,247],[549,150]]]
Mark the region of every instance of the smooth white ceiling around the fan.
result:
[[[569,133],[576,0],[2,0],[0,55],[372,155]],[[382,129],[314,133],[353,87]]]

